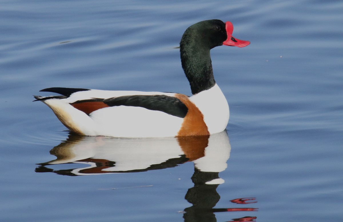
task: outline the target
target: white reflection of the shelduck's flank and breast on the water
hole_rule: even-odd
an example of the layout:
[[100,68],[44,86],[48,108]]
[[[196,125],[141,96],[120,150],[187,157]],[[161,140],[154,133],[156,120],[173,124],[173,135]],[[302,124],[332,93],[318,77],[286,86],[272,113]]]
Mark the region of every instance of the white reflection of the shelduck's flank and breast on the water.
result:
[[[194,143],[194,139],[188,141],[187,139],[190,138],[184,139],[180,142],[178,138],[174,137],[141,139],[80,137],[63,142],[52,149],[51,153],[58,158],[48,164],[90,164],[88,167],[72,171],[75,175],[90,175],[80,171],[96,167],[96,164],[91,161],[83,161],[85,159],[115,162],[115,166],[102,169],[102,171],[110,173],[144,170],[152,165],[186,155],[188,159],[194,161],[196,168],[200,171],[221,172],[225,170],[231,150],[226,131],[215,133],[208,140],[206,137],[206,140],[202,140],[203,143]],[[194,160],[191,155],[197,156],[194,157],[196,159]]]

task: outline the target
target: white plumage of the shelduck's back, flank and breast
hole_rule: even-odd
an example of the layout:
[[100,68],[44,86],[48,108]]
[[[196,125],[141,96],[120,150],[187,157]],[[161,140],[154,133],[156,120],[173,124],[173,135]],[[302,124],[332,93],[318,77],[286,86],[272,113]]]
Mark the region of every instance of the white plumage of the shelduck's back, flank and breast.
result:
[[[64,99],[42,100],[68,128],[87,136],[109,137],[173,137],[180,130],[183,118],[155,110],[133,106],[113,106],[95,110],[90,115],[70,103],[92,98],[124,95],[168,95],[175,93],[88,90],[73,93]],[[229,107],[222,91],[215,84],[211,89],[193,95],[189,100],[204,116],[210,134],[221,132],[229,119]]]

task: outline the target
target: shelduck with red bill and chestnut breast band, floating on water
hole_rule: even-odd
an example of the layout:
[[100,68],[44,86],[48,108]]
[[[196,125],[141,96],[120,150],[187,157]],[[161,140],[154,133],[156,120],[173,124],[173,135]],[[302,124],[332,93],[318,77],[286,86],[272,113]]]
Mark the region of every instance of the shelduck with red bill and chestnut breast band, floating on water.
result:
[[206,136],[225,130],[227,100],[214,80],[210,50],[245,47],[232,36],[233,24],[206,20],[191,25],[180,40],[181,65],[191,96],[170,92],[110,91],[52,87],[34,96],[70,131],[84,136],[117,138]]

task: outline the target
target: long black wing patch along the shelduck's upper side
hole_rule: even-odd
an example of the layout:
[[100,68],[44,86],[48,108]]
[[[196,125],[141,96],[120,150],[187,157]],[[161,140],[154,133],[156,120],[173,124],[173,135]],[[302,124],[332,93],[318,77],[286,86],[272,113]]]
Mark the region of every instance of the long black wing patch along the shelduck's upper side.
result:
[[184,118],[187,106],[176,97],[167,95],[129,95],[108,98],[103,101],[108,106],[136,106],[157,110],[169,115]]

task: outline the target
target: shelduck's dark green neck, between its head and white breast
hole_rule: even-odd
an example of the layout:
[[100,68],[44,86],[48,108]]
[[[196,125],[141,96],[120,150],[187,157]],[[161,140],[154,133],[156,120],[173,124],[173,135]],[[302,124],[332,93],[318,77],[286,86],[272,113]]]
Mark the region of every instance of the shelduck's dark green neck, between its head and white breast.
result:
[[187,44],[181,40],[180,56],[193,95],[215,85],[209,48]]

